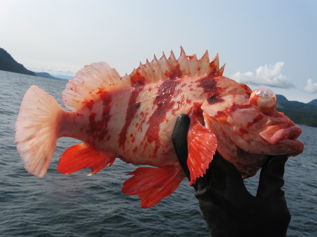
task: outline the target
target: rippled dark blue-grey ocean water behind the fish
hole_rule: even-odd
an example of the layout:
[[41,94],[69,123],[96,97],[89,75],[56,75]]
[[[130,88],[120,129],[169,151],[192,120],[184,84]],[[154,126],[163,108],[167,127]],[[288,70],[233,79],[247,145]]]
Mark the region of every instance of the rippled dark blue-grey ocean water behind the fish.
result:
[[[48,172],[26,172],[16,151],[15,121],[24,93],[37,85],[61,105],[66,82],[0,71],[0,236],[208,236],[194,189],[184,180],[150,209],[140,198],[121,193],[125,174],[136,166],[116,160],[87,176],[90,169],[56,171],[59,155],[80,143],[60,138]],[[317,128],[300,125],[304,152],[285,166],[285,191],[292,219],[287,236],[317,236]],[[245,180],[256,193],[258,175]]]

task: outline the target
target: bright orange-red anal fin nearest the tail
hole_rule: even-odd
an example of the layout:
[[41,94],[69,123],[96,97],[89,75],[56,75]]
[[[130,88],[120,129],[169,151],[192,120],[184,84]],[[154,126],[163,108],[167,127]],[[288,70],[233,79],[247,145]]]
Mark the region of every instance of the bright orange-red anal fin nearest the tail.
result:
[[64,174],[74,173],[80,169],[91,168],[88,175],[97,173],[109,164],[115,157],[105,151],[95,149],[87,143],[74,145],[66,149],[59,159],[57,170]]

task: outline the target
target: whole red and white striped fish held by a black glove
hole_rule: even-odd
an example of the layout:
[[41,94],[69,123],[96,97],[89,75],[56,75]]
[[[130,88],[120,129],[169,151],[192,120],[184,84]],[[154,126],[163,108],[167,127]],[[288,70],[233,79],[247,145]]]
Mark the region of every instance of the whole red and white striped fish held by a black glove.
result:
[[[172,145],[178,115],[188,114],[187,135],[191,184],[206,173],[216,150],[243,178],[256,174],[270,155],[299,155],[301,128],[275,110],[273,91],[223,76],[218,54],[197,59],[181,47],[160,59],[140,62],[120,76],[105,62],[86,65],[61,94],[63,109],[44,90],[32,85],[25,93],[15,126],[17,151],[25,169],[43,177],[60,137],[83,143],[67,148],[57,170],[89,175],[116,158],[136,168],[122,192],[138,195],[150,208],[170,196],[186,177]],[[146,165],[146,167],[144,167]]]

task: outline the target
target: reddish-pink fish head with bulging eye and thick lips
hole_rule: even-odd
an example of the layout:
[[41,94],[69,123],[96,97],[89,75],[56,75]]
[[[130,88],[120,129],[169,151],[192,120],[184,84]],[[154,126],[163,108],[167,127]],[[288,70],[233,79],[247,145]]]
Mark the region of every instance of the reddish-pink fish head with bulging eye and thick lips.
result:
[[[272,90],[251,91],[239,84],[236,93],[223,93],[218,101],[205,101],[201,106],[205,126],[216,134],[219,153],[239,171],[249,172],[256,167],[254,175],[269,155],[302,153],[304,145],[296,140],[301,128],[275,110],[276,96]],[[245,164],[241,165],[242,162]]]

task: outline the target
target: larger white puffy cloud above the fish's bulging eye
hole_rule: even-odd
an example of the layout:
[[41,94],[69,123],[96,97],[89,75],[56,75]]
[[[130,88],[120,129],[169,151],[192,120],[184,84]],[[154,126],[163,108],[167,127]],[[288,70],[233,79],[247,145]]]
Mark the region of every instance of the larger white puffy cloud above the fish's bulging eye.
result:
[[277,62],[273,67],[271,65],[260,66],[256,69],[256,75],[253,72],[237,72],[232,79],[239,83],[264,85],[278,88],[292,88],[293,82],[290,82],[286,76],[281,74],[284,62]]

